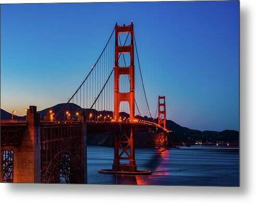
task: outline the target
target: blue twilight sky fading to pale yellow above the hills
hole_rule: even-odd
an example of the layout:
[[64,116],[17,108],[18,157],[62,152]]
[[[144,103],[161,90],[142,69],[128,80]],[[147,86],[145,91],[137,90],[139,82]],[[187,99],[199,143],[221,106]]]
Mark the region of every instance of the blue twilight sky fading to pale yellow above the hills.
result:
[[1,108],[66,102],[116,22],[133,20],[151,112],[194,129],[239,129],[239,2],[1,5]]

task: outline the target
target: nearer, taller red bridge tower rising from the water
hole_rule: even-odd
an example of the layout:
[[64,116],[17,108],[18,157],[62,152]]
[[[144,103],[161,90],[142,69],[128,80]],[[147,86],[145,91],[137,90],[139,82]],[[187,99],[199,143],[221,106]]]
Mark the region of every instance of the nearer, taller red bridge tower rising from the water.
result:
[[[133,23],[128,26],[118,26],[116,24],[115,31],[116,45],[114,49],[114,119],[116,121],[119,119],[120,103],[122,101],[127,101],[130,106],[130,121],[133,121],[135,118]],[[131,35],[130,45],[118,45],[120,33],[127,33],[127,35]],[[119,66],[119,57],[122,53],[130,54],[131,61],[129,67]],[[121,93],[119,91],[119,79],[121,75],[128,75],[130,77],[130,92]],[[122,125],[120,124],[120,133],[114,135],[114,161],[112,166],[113,171],[135,172],[137,170],[134,153],[134,133],[135,130],[133,125],[131,126],[131,129],[122,129]],[[119,151],[119,148],[121,148],[121,151]],[[120,163],[122,159],[124,159],[124,161],[129,161],[129,163]]]

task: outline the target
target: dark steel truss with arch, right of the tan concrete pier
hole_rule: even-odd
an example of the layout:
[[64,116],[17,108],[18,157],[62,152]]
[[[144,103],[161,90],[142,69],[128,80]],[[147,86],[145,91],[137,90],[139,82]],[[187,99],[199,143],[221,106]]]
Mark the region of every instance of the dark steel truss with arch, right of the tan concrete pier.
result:
[[83,183],[81,124],[41,126],[42,183]]

